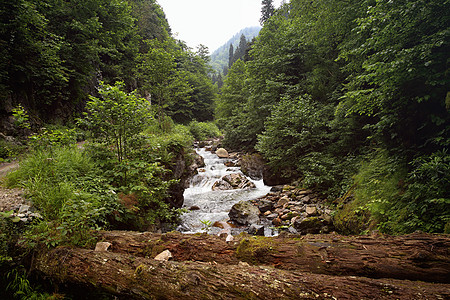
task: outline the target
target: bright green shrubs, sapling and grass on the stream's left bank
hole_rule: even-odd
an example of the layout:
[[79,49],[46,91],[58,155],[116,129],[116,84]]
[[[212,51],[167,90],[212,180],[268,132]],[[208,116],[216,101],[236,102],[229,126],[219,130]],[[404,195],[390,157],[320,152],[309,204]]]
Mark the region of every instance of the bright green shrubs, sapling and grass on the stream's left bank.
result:
[[77,146],[73,129],[45,130],[8,175],[43,217],[22,233],[26,245],[87,245],[101,228],[144,230],[179,215],[170,205],[171,168],[193,141],[189,128],[162,132],[148,103],[120,87],[102,85],[102,101],[91,97],[80,122],[91,129],[89,142]]

